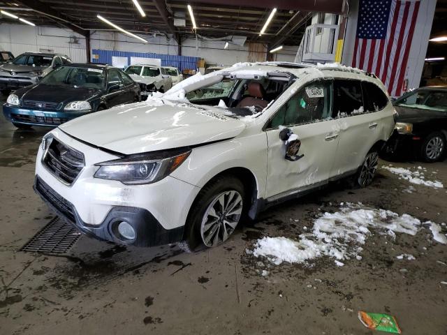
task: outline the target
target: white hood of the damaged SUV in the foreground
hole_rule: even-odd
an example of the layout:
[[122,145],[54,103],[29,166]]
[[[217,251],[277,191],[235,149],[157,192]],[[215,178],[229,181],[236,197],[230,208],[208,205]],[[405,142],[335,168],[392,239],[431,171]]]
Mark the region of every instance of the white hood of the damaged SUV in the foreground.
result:
[[218,107],[159,99],[88,114],[59,128],[97,147],[139,154],[226,140],[239,135],[245,124]]

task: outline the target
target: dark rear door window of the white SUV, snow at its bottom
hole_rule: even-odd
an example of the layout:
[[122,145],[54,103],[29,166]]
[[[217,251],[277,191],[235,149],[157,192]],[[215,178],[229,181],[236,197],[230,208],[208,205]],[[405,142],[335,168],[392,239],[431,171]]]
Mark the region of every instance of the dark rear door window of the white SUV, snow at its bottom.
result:
[[363,112],[362,87],[358,80],[334,80],[332,117]]

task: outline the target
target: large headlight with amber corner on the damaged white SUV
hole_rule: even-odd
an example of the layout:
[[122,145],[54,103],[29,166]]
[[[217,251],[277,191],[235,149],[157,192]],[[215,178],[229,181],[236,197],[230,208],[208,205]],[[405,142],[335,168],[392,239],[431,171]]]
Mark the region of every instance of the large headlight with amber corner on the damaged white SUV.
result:
[[163,179],[181,165],[191,149],[173,149],[149,154],[130,155],[115,161],[95,164],[95,178],[121,181],[126,185],[151,184]]

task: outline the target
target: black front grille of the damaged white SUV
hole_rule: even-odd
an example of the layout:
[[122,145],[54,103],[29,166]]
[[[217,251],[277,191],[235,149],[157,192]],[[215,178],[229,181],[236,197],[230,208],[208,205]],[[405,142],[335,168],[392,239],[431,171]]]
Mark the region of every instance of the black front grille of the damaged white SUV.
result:
[[73,184],[73,181],[85,166],[84,155],[59,142],[54,137],[47,141],[50,142],[50,145],[43,157],[43,164],[54,176],[66,184]]

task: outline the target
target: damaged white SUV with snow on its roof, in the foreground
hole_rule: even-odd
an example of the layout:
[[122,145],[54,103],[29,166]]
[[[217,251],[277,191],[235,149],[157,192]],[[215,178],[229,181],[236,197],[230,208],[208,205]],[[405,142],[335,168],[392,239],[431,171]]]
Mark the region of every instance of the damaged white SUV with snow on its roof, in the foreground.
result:
[[91,237],[217,246],[272,204],[349,175],[370,184],[393,112],[360,70],[236,64],[54,129],[34,188]]

